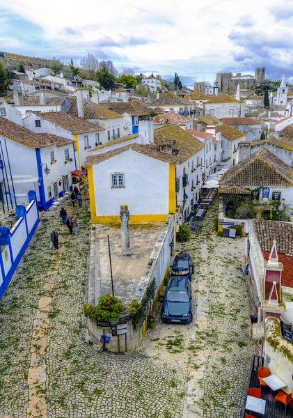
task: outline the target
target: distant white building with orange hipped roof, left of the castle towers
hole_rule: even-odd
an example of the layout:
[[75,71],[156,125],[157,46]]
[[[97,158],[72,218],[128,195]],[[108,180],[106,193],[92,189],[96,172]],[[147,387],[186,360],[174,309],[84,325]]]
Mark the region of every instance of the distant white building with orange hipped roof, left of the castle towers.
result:
[[228,94],[222,94],[203,104],[204,114],[216,116],[216,118],[232,118],[245,116],[245,102],[232,98]]

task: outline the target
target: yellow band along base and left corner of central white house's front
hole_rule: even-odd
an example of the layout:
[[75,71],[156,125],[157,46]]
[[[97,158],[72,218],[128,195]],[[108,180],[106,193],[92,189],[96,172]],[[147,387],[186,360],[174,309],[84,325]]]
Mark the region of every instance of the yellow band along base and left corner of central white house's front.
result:
[[[90,196],[95,200],[95,192],[91,192],[93,185],[90,184],[90,176],[88,176],[88,188],[90,190]],[[92,200],[90,198],[90,214],[93,224],[120,224],[119,215],[110,216],[97,216],[95,207],[93,207]],[[166,215],[130,215],[129,224],[135,224],[136,222],[166,222],[168,214]]]

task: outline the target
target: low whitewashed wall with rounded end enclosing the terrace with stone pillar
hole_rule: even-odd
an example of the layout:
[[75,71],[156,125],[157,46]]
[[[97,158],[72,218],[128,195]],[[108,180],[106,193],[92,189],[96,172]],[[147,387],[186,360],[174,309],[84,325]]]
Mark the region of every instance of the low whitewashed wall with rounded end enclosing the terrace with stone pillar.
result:
[[[95,239],[95,231],[92,231],[92,239]],[[148,290],[149,286],[155,281],[155,296],[152,300],[148,302],[148,313],[150,314],[155,307],[155,302],[159,296],[162,286],[164,285],[164,278],[170,271],[170,261],[171,261],[171,247],[170,244],[173,243],[173,248],[175,246],[174,242],[174,216],[169,215],[166,219],[166,228],[161,231],[161,235],[157,240],[155,247],[150,254],[150,259],[148,264],[150,265],[150,271],[146,277],[141,277],[136,293],[133,298],[136,299],[139,303],[143,300],[143,297]],[[99,268],[98,265],[93,265],[97,263],[97,258],[99,254],[95,254],[95,250],[91,245],[90,248],[90,270],[94,268]],[[93,283],[93,280],[89,281],[89,295],[88,302],[95,304],[97,301],[97,294],[100,293],[100,289],[97,289],[96,284]],[[90,338],[100,346],[103,346],[103,343],[100,341],[101,336],[109,336],[110,341],[106,343],[106,348],[113,352],[118,351],[131,351],[135,350],[141,345],[143,341],[143,336],[147,329],[147,320],[145,319],[143,325],[134,327],[132,320],[129,320],[127,324],[127,346],[125,346],[125,334],[120,336],[112,336],[111,325],[116,325],[119,321],[111,320],[109,327],[97,326],[96,322],[88,320],[88,332]]]

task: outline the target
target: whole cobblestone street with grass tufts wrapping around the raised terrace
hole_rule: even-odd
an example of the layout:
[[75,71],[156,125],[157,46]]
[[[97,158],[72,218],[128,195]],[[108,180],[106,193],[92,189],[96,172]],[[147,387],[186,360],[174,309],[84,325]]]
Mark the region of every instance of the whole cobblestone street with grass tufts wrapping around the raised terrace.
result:
[[[71,202],[64,206],[71,214]],[[42,214],[0,301],[0,416],[238,417],[253,352],[253,311],[239,261],[244,240],[216,237],[212,208],[185,248],[196,262],[193,323],[172,326],[158,318],[140,350],[104,354],[91,343],[81,311],[90,240],[87,196],[74,215],[77,236],[58,212]],[[52,228],[59,232],[58,251],[49,249]],[[160,308],[158,303],[158,317]]]

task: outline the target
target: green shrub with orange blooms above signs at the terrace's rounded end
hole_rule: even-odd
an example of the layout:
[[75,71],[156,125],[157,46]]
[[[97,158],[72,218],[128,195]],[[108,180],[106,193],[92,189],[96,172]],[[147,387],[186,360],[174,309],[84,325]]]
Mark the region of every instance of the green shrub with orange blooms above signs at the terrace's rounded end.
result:
[[100,297],[99,303],[94,306],[92,304],[85,304],[83,307],[84,314],[90,320],[117,320],[120,312],[125,311],[125,306],[122,304],[119,297],[111,296],[107,293]]

